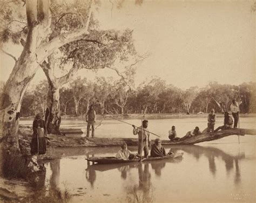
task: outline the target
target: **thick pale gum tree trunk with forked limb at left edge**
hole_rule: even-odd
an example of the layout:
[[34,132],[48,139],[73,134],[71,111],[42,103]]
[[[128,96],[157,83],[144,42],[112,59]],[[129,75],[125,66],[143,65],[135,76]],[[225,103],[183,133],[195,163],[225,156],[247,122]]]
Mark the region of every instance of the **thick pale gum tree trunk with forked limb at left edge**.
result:
[[[91,1],[91,4],[93,1]],[[26,88],[35,76],[38,65],[57,48],[71,41],[91,38],[87,26],[52,38],[51,13],[49,0],[26,0],[26,17],[28,20],[28,34],[20,57],[6,81],[0,98],[1,110],[1,137],[0,137],[0,176],[3,175],[5,154],[19,151],[18,124],[21,102]],[[89,24],[91,5],[86,16],[86,25]],[[94,38],[94,36],[93,36]],[[7,160],[8,161],[8,160]]]

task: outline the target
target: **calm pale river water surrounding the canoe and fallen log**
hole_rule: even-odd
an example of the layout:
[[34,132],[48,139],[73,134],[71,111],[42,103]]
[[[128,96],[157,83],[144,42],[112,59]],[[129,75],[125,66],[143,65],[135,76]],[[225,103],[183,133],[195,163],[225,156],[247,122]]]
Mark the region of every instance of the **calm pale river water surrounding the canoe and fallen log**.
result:
[[[218,118],[215,127],[222,123],[223,118]],[[84,128],[80,120],[62,124]],[[203,130],[207,123],[205,118],[149,120],[149,130],[162,139],[167,139],[172,125],[182,137],[195,126]],[[256,128],[255,118],[240,118],[240,127]],[[132,127],[106,120],[96,129],[96,136],[133,137]],[[165,146],[167,151],[183,152],[183,158],[126,165],[89,165],[85,160],[114,156],[119,147],[54,149],[59,159],[45,162],[44,189],[46,193],[56,187],[68,190],[71,202],[256,202],[255,136],[239,139],[240,144],[238,136],[228,136],[197,145]],[[129,149],[137,152],[136,146]]]

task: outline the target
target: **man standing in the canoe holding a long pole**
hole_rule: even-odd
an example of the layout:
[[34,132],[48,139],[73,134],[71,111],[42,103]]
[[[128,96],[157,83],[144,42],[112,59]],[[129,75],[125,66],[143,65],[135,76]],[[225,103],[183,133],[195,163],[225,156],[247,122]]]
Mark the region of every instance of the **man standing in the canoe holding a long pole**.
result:
[[135,125],[132,125],[133,127],[133,135],[138,134],[139,138],[139,145],[138,145],[138,154],[142,155],[142,151],[144,150],[144,157],[147,158],[149,157],[149,146],[150,146],[150,141],[149,141],[149,130],[147,130],[147,124],[149,122],[147,120],[144,120],[142,122],[142,126],[139,128],[136,128]]

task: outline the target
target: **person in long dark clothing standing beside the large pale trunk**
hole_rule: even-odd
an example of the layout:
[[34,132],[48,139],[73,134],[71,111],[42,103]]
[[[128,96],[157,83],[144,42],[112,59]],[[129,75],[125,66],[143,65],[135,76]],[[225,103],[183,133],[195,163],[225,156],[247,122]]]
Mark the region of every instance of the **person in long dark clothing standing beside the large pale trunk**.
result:
[[45,123],[42,119],[33,121],[33,135],[30,144],[31,155],[46,153]]

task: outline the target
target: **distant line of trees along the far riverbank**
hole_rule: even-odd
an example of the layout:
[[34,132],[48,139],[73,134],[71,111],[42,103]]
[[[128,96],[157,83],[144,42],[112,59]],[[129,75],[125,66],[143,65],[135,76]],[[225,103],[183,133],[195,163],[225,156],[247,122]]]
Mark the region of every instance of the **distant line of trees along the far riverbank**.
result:
[[[27,91],[21,115],[33,116],[45,112],[48,82],[42,81],[35,89]],[[76,79],[60,89],[62,115],[83,115],[91,104],[97,114],[147,114],[147,113],[208,113],[210,109],[223,113],[229,110],[232,99],[240,97],[241,113],[256,112],[256,83],[239,86],[210,82],[204,88],[190,87],[182,90],[166,85],[164,80],[153,78],[131,89],[123,80],[96,78],[94,82]]]

